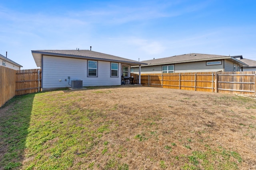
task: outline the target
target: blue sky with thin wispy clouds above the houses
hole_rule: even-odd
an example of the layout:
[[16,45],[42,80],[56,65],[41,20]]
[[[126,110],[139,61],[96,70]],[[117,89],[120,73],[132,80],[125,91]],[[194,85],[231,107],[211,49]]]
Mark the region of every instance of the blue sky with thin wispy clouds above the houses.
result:
[[138,61],[188,53],[256,60],[254,0],[1,0],[0,54],[90,49]]

